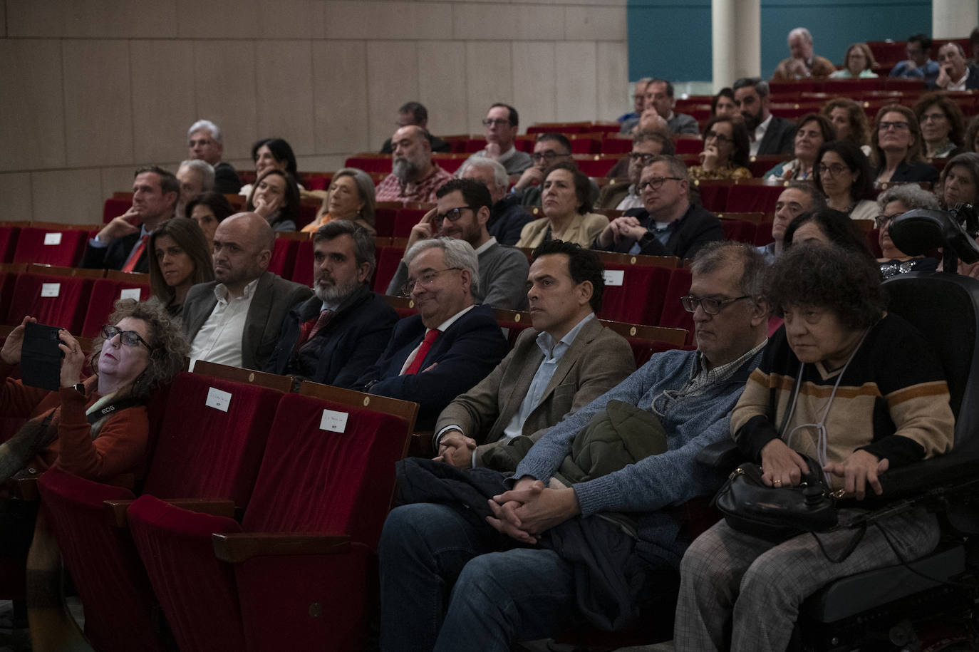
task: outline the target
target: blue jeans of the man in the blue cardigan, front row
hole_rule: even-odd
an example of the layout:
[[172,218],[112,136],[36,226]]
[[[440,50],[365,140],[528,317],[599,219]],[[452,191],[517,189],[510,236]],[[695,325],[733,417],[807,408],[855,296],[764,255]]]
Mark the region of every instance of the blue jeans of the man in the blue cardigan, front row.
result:
[[445,505],[388,516],[378,548],[382,650],[507,652],[575,623],[571,564],[551,550],[496,551],[493,534]]

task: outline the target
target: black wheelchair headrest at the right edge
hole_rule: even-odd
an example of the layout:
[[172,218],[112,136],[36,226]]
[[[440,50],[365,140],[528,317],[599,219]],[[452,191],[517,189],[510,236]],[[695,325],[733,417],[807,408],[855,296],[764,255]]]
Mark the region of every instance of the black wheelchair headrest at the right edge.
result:
[[968,204],[956,205],[949,211],[909,210],[890,226],[895,247],[909,256],[919,256],[941,247],[953,250],[959,259],[968,263],[979,261],[976,230],[979,230],[979,218]]

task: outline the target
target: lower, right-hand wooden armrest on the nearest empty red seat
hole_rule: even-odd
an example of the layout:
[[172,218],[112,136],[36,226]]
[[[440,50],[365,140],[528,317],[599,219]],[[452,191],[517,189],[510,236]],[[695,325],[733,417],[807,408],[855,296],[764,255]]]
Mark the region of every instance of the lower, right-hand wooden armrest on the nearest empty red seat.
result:
[[329,555],[350,551],[350,536],[290,532],[214,533],[214,555],[238,564],[268,555]]

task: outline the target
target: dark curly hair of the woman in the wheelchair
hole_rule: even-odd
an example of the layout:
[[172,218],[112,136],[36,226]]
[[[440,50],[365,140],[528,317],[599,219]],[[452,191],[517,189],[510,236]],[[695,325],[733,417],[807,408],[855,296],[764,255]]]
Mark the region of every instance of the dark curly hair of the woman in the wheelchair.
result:
[[820,307],[854,330],[873,325],[887,306],[880,268],[870,256],[822,243],[793,247],[779,256],[769,272],[768,296],[779,317],[790,305]]

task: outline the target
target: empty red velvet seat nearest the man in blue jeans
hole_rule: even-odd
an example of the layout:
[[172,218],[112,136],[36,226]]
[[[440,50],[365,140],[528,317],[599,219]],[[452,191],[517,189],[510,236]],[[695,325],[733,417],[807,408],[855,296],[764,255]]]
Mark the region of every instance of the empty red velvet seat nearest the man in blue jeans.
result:
[[[343,432],[320,428],[324,410],[345,415]],[[134,502],[130,528],[181,649],[360,649],[371,550],[413,426],[288,395],[241,526]]]

